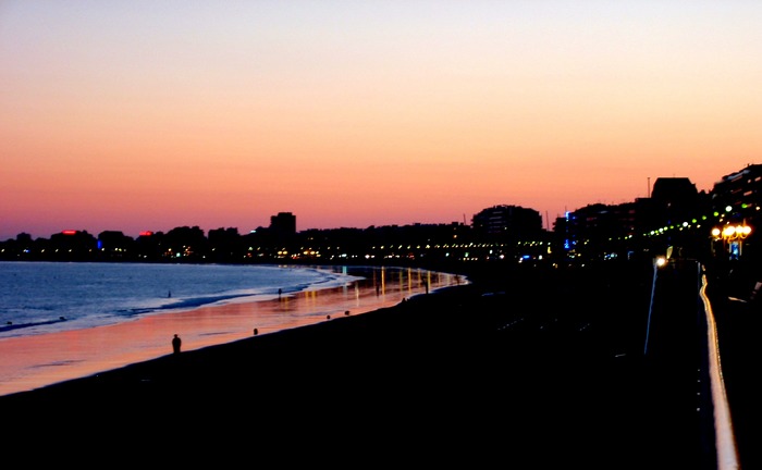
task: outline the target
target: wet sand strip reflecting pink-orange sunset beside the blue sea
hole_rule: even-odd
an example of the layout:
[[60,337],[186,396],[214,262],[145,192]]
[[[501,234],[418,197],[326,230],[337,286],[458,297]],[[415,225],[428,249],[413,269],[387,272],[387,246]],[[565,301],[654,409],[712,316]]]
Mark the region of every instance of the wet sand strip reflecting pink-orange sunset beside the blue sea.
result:
[[368,268],[373,268],[373,273],[380,272],[379,275],[385,273],[385,276],[357,280],[341,287],[284,294],[272,300],[204,306],[150,314],[113,325],[1,339],[0,396],[169,355],[174,334],[182,339],[182,350],[190,351],[251,337],[255,329],[256,335],[262,336],[340,316],[362,314],[426,292],[419,282],[405,281],[400,273],[409,277],[415,273],[429,273],[427,281],[432,290],[463,279],[457,274],[425,269],[392,267],[377,271],[382,267]]

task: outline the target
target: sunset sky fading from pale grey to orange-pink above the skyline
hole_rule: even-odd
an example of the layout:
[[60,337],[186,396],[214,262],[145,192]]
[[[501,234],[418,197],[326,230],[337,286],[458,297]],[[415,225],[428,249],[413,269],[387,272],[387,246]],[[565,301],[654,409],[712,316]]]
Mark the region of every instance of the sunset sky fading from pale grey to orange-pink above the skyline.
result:
[[760,1],[0,0],[0,239],[470,223],[762,162]]

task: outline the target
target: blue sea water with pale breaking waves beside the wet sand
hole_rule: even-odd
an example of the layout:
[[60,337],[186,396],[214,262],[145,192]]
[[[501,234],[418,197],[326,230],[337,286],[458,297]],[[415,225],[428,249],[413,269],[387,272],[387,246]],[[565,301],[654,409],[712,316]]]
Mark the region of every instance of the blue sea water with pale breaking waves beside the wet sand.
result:
[[276,298],[364,279],[333,267],[0,262],[0,339]]

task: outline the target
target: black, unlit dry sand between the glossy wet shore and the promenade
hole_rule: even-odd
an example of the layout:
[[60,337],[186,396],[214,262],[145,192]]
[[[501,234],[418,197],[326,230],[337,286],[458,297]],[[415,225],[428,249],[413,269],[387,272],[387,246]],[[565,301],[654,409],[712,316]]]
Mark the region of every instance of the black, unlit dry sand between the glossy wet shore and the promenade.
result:
[[395,307],[0,397],[4,442],[111,463],[711,468],[696,378],[643,355],[650,272],[480,267]]

